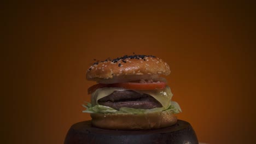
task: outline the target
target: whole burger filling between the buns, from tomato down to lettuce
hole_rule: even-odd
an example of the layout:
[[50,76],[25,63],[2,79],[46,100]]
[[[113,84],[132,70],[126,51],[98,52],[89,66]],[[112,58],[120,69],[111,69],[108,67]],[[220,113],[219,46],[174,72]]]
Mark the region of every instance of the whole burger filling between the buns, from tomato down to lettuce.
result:
[[87,113],[181,112],[178,103],[171,101],[173,94],[165,82],[98,83],[88,93],[91,103],[83,105]]

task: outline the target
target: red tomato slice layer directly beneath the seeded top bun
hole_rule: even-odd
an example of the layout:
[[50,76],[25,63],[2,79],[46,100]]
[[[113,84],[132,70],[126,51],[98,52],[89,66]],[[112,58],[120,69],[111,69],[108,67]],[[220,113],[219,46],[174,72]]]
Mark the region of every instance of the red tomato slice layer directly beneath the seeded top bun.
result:
[[112,84],[103,84],[98,83],[94,86],[91,86],[88,89],[88,94],[93,93],[98,88],[103,87],[121,87],[125,89],[138,89],[138,90],[153,90],[153,89],[164,89],[166,87],[165,82],[153,82],[153,83],[138,83],[138,82],[125,82],[125,83],[112,83]]

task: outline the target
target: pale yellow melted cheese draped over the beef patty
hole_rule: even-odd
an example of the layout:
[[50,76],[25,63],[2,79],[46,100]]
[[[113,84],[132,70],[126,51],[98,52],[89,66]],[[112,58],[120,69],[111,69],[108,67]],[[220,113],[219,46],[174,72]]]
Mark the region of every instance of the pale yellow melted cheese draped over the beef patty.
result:
[[[98,100],[106,97],[107,95],[113,93],[114,91],[127,91],[128,89],[119,88],[119,87],[104,87],[97,89],[94,93],[91,94],[91,104],[98,105]],[[133,90],[138,93],[146,93],[151,95],[153,98],[158,100],[163,107],[167,108],[172,99],[172,92],[170,87],[166,86],[165,89],[155,89],[155,90]]]

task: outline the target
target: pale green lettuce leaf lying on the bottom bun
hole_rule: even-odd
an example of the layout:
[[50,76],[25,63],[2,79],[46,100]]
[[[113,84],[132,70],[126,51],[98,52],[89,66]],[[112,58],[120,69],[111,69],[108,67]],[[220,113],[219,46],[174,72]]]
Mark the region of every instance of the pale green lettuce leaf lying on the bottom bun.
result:
[[95,105],[92,106],[90,103],[85,102],[87,105],[83,105],[86,110],[83,112],[86,113],[130,113],[130,114],[139,114],[139,113],[150,113],[150,112],[160,112],[160,111],[170,111],[172,113],[179,113],[182,112],[181,107],[179,107],[179,104],[176,101],[171,101],[170,105],[168,106],[167,109],[164,107],[157,107],[154,109],[133,109],[129,107],[121,107],[118,110],[113,109],[112,107],[109,106],[104,106],[104,105]]

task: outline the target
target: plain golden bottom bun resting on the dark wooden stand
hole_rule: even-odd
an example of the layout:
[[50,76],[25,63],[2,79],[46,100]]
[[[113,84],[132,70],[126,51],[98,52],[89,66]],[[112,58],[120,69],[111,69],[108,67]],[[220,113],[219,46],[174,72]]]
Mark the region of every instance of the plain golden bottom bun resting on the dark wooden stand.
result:
[[143,114],[91,113],[92,125],[103,129],[139,130],[168,127],[177,122],[170,111]]

